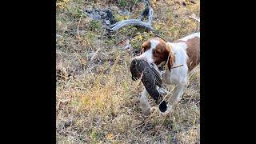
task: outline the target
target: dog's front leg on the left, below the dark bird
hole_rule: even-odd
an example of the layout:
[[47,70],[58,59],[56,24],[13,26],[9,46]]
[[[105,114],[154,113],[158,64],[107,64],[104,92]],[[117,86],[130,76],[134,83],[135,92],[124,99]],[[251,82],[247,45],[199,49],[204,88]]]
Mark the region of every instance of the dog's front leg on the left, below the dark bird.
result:
[[142,109],[142,113],[145,115],[150,114],[150,103],[149,99],[147,98],[148,92],[146,91],[146,88],[144,88],[142,92],[142,96],[140,98],[140,106]]

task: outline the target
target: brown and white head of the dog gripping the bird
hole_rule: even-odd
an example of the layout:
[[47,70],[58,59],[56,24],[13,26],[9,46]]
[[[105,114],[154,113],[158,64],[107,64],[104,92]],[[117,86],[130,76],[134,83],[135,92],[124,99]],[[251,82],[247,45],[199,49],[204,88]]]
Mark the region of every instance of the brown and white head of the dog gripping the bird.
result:
[[143,59],[149,64],[154,63],[157,66],[161,66],[168,60],[169,70],[174,63],[174,55],[170,53],[170,46],[161,38],[150,38],[144,42],[141,46],[141,54],[135,58]]

